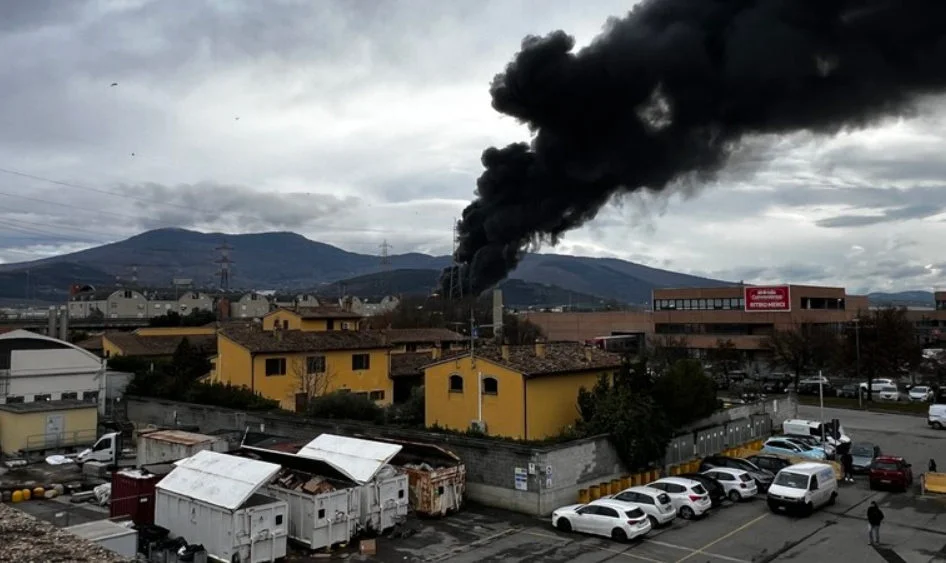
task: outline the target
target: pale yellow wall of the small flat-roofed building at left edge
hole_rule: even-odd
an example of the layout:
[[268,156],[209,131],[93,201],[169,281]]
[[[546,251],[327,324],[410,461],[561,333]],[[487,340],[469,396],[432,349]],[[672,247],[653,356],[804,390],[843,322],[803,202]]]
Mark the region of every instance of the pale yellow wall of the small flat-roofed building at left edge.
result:
[[0,411],[0,448],[5,454],[14,454],[29,446],[42,442],[46,434],[46,417],[63,415],[64,442],[82,440],[95,441],[98,426],[98,406],[90,404],[79,409],[51,410],[48,412],[15,413]]

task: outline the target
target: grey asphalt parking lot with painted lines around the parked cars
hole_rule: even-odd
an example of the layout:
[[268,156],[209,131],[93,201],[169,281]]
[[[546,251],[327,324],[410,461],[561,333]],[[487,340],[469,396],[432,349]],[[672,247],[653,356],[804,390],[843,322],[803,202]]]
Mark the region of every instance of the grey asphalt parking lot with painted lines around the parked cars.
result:
[[[801,418],[817,418],[802,407]],[[903,455],[915,474],[929,457],[946,464],[946,433],[918,417],[849,411],[825,412],[840,418],[855,441],[878,444],[884,453]],[[918,480],[917,480],[918,481]],[[882,546],[867,543],[866,511],[877,501],[886,513]],[[837,505],[808,518],[771,514],[762,498],[726,505],[695,521],[670,527],[628,544],[564,534],[547,519],[471,508],[437,521],[409,523],[414,535],[380,538],[374,557],[354,561],[451,563],[649,561],[652,563],[756,563],[767,561],[923,562],[946,561],[946,500],[922,497],[918,485],[907,493],[870,491],[866,479],[842,484]]]

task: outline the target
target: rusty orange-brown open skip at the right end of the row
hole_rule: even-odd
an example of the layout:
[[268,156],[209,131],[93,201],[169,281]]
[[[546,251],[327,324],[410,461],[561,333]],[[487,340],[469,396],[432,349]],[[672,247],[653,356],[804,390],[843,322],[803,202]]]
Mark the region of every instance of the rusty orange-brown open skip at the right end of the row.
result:
[[410,482],[410,508],[424,516],[445,516],[463,505],[466,491],[466,467],[451,451],[433,444],[376,438],[400,445],[401,451],[391,465],[407,473]]

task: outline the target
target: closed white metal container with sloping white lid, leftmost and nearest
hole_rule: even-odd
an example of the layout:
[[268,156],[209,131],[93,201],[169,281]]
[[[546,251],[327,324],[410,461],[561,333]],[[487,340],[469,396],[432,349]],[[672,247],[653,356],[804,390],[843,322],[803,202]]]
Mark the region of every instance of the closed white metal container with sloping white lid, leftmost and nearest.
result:
[[286,556],[288,503],[260,493],[279,465],[201,451],[157,484],[155,524],[224,561]]

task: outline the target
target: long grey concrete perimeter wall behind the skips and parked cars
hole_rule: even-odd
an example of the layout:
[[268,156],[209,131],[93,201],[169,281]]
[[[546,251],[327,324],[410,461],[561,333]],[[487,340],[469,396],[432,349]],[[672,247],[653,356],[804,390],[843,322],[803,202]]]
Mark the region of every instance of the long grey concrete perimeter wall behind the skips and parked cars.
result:
[[[533,515],[548,515],[555,508],[576,501],[578,489],[603,481],[610,481],[628,473],[617,451],[606,436],[595,436],[550,446],[528,446],[513,442],[438,434],[423,430],[405,430],[354,422],[303,419],[290,414],[252,413],[193,405],[158,399],[127,397],[128,416],[139,426],[153,424],[194,425],[203,433],[234,431],[231,436],[239,443],[242,431],[249,429],[294,439],[314,438],[321,433],[392,437],[417,442],[433,443],[453,451],[466,466],[467,497],[475,502]],[[688,430],[677,438],[682,444],[685,460],[693,459],[692,451],[700,436],[703,448],[709,447],[709,432],[722,432],[729,438],[731,426],[740,432],[758,432],[768,427],[769,416],[781,420],[794,416],[790,400],[765,405],[751,405],[737,409],[743,418],[734,420],[734,414],[721,413],[701,430]],[[773,410],[777,408],[777,412]],[[724,420],[725,418],[725,420]],[[758,436],[761,437],[761,436]],[[746,440],[748,441],[748,440]],[[726,445],[709,451],[716,453]],[[681,454],[682,455],[682,454]],[[705,454],[704,454],[705,455]],[[683,461],[683,460],[681,460]],[[668,465],[674,463],[667,460]],[[520,479],[517,486],[517,469]]]

